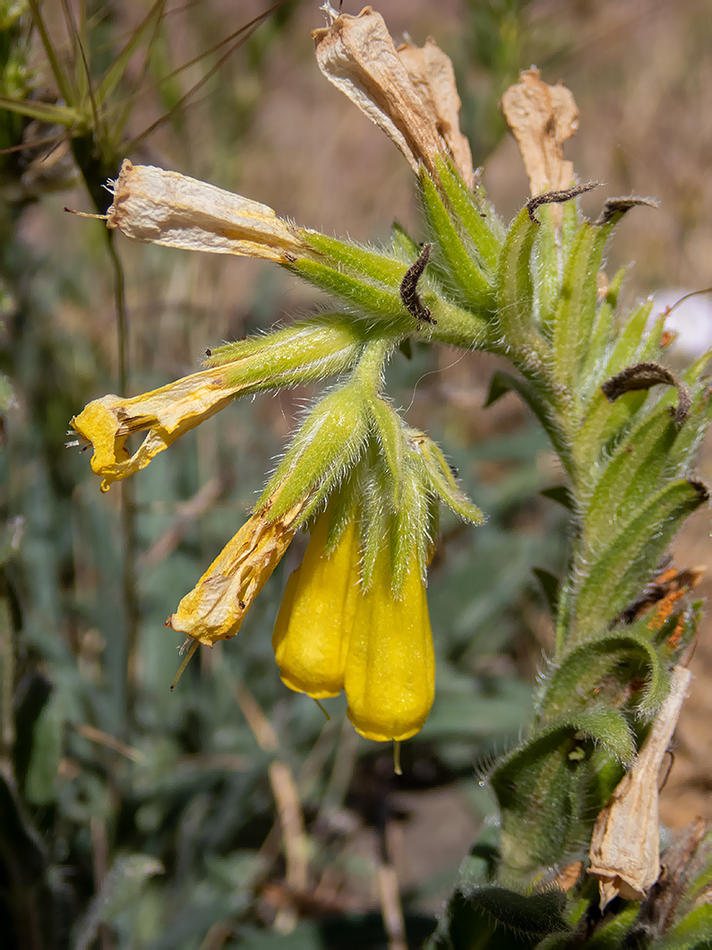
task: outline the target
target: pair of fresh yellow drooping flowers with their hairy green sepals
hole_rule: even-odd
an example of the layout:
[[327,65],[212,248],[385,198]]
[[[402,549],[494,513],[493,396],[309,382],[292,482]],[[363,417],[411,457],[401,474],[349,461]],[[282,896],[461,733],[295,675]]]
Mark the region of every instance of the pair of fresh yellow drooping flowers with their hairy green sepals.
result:
[[420,731],[434,699],[425,574],[438,505],[482,516],[424,433],[380,396],[367,416],[374,450],[312,524],[272,646],[290,689],[314,699],[344,691],[356,730],[384,742]]

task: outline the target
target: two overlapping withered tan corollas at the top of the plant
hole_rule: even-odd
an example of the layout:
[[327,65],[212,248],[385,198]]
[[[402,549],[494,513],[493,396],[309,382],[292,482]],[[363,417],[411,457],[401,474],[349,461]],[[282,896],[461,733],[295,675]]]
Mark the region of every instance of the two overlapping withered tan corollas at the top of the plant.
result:
[[436,156],[447,155],[462,180],[473,184],[470,146],[459,131],[455,73],[434,40],[396,49],[384,18],[370,7],[358,16],[343,13],[311,36],[328,81],[384,130],[416,173],[423,162],[436,174]]

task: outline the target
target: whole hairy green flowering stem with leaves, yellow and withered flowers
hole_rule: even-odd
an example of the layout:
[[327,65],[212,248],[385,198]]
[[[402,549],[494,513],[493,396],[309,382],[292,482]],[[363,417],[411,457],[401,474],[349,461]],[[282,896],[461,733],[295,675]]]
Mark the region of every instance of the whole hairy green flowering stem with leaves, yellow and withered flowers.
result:
[[[594,928],[590,877],[567,884],[568,907],[563,892],[542,887],[577,866],[582,843],[593,838],[589,869],[622,897],[641,900],[654,883],[650,807],[646,868],[628,890],[607,848],[611,834],[620,838],[621,807],[623,825],[632,821],[629,787],[638,788],[638,769],[653,768],[648,750],[659,756],[669,739],[656,739],[656,715],[669,697],[682,700],[676,671],[701,616],[686,598],[691,580],[663,598],[665,610],[649,590],[663,584],[656,571],[667,545],[709,497],[694,468],[712,415],[706,358],[683,373],[665,368],[664,324],[648,327],[649,302],[622,314],[622,276],[599,291],[616,224],[649,202],[609,199],[598,218],[582,216],[578,198],[593,184],[576,183],[563,157],[577,125],[568,90],[533,71],[504,97],[533,194],[505,227],[472,170],[452,69],[431,41],[395,47],[370,8],[334,15],[314,39],[329,81],[411,164],[422,244],[394,228],[388,247],[361,248],[251,199],[124,162],[110,227],[271,260],[326,291],[335,309],[220,348],[209,369],[161,390],[97,400],[72,424],[93,444],[105,488],[238,395],[329,379],[252,516],[168,625],[205,645],[234,637],[297,530],[309,527],[272,639],[282,680],[315,699],[343,691],[357,731],[401,740],[422,729],[434,701],[425,585],[440,504],[470,523],[483,515],[440,448],[389,402],[384,366],[413,337],[510,359],[514,371],[497,371],[487,404],[515,391],[550,437],[566,478],[553,495],[571,513],[571,551],[563,577],[545,579],[555,644],[533,720],[489,774],[499,810],[490,878],[459,888],[431,945],[503,946],[500,927],[504,940],[534,934],[563,947],[574,930]],[[143,430],[129,456],[126,439]]]

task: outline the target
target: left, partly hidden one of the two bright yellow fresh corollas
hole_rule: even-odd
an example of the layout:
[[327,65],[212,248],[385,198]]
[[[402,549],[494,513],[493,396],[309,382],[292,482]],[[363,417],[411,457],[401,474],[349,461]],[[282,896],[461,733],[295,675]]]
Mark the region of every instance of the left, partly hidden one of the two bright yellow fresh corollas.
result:
[[344,689],[350,629],[360,591],[358,530],[347,525],[327,551],[328,516],[314,524],[304,561],[287,581],[272,647],[282,682],[314,699]]

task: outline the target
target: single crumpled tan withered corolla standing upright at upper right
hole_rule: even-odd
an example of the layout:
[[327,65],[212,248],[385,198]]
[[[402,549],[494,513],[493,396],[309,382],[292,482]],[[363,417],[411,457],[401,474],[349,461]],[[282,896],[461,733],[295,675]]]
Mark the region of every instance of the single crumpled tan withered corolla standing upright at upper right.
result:
[[561,191],[573,180],[563,145],[578,129],[578,108],[565,85],[547,85],[538,69],[519,73],[502,96],[502,112],[519,145],[533,195]]

